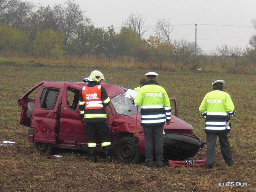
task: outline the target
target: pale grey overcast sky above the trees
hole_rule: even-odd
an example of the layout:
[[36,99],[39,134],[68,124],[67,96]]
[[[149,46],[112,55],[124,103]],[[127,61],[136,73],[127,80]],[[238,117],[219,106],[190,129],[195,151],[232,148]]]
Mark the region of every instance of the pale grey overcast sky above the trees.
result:
[[[65,0],[28,0],[42,5],[64,4]],[[204,52],[227,44],[244,49],[256,33],[252,19],[256,19],[256,0],[76,0],[96,27],[113,25],[120,30],[131,13],[146,19],[148,32],[154,35],[157,19],[170,20],[174,25],[173,39],[195,41]]]

